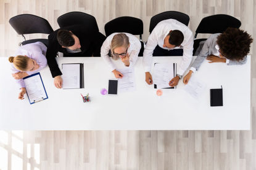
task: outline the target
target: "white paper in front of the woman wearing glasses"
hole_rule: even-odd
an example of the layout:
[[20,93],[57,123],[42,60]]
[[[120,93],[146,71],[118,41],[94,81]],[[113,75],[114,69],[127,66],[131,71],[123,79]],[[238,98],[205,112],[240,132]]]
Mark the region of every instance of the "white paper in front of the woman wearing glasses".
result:
[[118,91],[122,93],[136,90],[133,69],[118,69],[118,71],[123,74],[123,78],[118,79]]

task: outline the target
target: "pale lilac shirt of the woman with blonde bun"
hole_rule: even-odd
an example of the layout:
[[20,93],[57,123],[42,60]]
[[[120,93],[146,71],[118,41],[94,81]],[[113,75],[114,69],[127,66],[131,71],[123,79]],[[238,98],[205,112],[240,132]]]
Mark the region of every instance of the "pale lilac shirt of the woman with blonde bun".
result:
[[[42,42],[35,42],[31,44],[22,45],[21,47],[19,47],[18,50],[15,52],[15,56],[26,55],[29,58],[35,60],[36,63],[39,64],[38,69],[34,71],[25,71],[28,75],[31,75],[35,74],[36,72],[40,71],[41,69],[47,66],[46,50],[47,47]],[[10,63],[10,69],[12,71],[12,74],[20,72],[18,69],[14,67],[13,63]],[[19,84],[20,88],[25,87],[23,79],[17,79],[16,82]]]

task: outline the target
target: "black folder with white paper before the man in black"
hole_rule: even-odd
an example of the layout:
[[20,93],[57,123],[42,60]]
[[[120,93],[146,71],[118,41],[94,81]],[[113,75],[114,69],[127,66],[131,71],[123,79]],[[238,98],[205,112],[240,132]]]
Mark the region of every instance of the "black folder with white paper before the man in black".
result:
[[85,88],[83,63],[62,64],[64,89]]

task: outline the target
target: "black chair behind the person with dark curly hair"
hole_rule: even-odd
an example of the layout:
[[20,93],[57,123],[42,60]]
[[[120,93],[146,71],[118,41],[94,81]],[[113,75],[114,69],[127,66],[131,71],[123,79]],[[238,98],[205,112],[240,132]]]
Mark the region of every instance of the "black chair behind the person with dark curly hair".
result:
[[226,14],[217,14],[211,15],[209,17],[202,18],[199,25],[196,29],[196,34],[194,36],[194,50],[193,55],[195,54],[199,43],[205,41],[206,39],[196,39],[197,34],[215,34],[223,33],[228,27],[239,28],[241,26],[241,21],[237,20],[230,15]]

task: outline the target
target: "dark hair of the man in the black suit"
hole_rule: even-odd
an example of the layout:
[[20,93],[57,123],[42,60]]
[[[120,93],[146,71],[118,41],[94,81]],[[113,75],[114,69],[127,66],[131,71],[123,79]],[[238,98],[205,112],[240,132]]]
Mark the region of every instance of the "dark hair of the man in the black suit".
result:
[[57,32],[57,41],[64,47],[70,47],[75,44],[75,39],[72,37],[73,33],[68,30],[60,29]]

